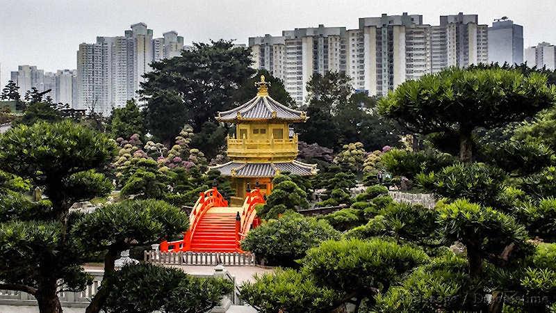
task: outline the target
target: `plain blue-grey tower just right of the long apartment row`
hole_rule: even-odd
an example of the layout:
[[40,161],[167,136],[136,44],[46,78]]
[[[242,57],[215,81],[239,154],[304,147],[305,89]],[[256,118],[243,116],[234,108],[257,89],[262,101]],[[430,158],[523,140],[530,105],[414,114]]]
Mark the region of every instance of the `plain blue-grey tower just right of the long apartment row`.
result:
[[511,19],[495,19],[489,27],[489,62],[523,63],[523,26]]

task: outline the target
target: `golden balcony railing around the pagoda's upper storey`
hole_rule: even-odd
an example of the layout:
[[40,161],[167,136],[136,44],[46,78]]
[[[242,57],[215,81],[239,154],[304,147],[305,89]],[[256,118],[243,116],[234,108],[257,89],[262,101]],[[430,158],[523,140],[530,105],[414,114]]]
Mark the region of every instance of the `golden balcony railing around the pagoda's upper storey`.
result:
[[288,139],[249,140],[228,138],[228,157],[297,157],[297,136]]

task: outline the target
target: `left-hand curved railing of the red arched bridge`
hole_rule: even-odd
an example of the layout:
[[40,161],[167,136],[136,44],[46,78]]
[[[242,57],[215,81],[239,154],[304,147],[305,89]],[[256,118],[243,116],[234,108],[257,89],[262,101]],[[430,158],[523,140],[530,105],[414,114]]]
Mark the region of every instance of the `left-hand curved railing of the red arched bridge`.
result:
[[183,240],[178,241],[162,241],[160,245],[161,252],[168,251],[188,251],[191,248],[191,239],[199,221],[206,211],[213,207],[227,207],[228,201],[216,190],[216,187],[208,189],[204,193],[199,194],[199,199],[195,202],[193,210],[189,214],[189,230],[183,233]]

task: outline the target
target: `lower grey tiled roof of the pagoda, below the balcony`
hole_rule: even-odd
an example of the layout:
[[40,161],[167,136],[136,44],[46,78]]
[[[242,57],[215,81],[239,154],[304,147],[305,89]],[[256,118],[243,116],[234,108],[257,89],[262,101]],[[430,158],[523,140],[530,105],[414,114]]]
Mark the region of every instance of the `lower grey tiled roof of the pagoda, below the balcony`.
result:
[[211,166],[211,170],[219,170],[220,174],[232,177],[275,177],[279,172],[291,172],[293,175],[315,175],[316,164],[306,164],[300,161],[271,162],[271,163],[241,163],[228,162]]

